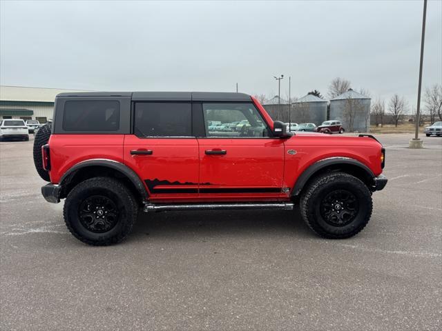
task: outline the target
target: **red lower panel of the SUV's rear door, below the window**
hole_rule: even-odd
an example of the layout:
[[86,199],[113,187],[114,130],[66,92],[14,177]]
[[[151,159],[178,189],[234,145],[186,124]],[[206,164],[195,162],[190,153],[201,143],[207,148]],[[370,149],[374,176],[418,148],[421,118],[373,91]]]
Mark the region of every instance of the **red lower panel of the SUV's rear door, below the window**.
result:
[[157,200],[198,197],[198,141],[195,138],[124,139],[124,163],[137,172]]

